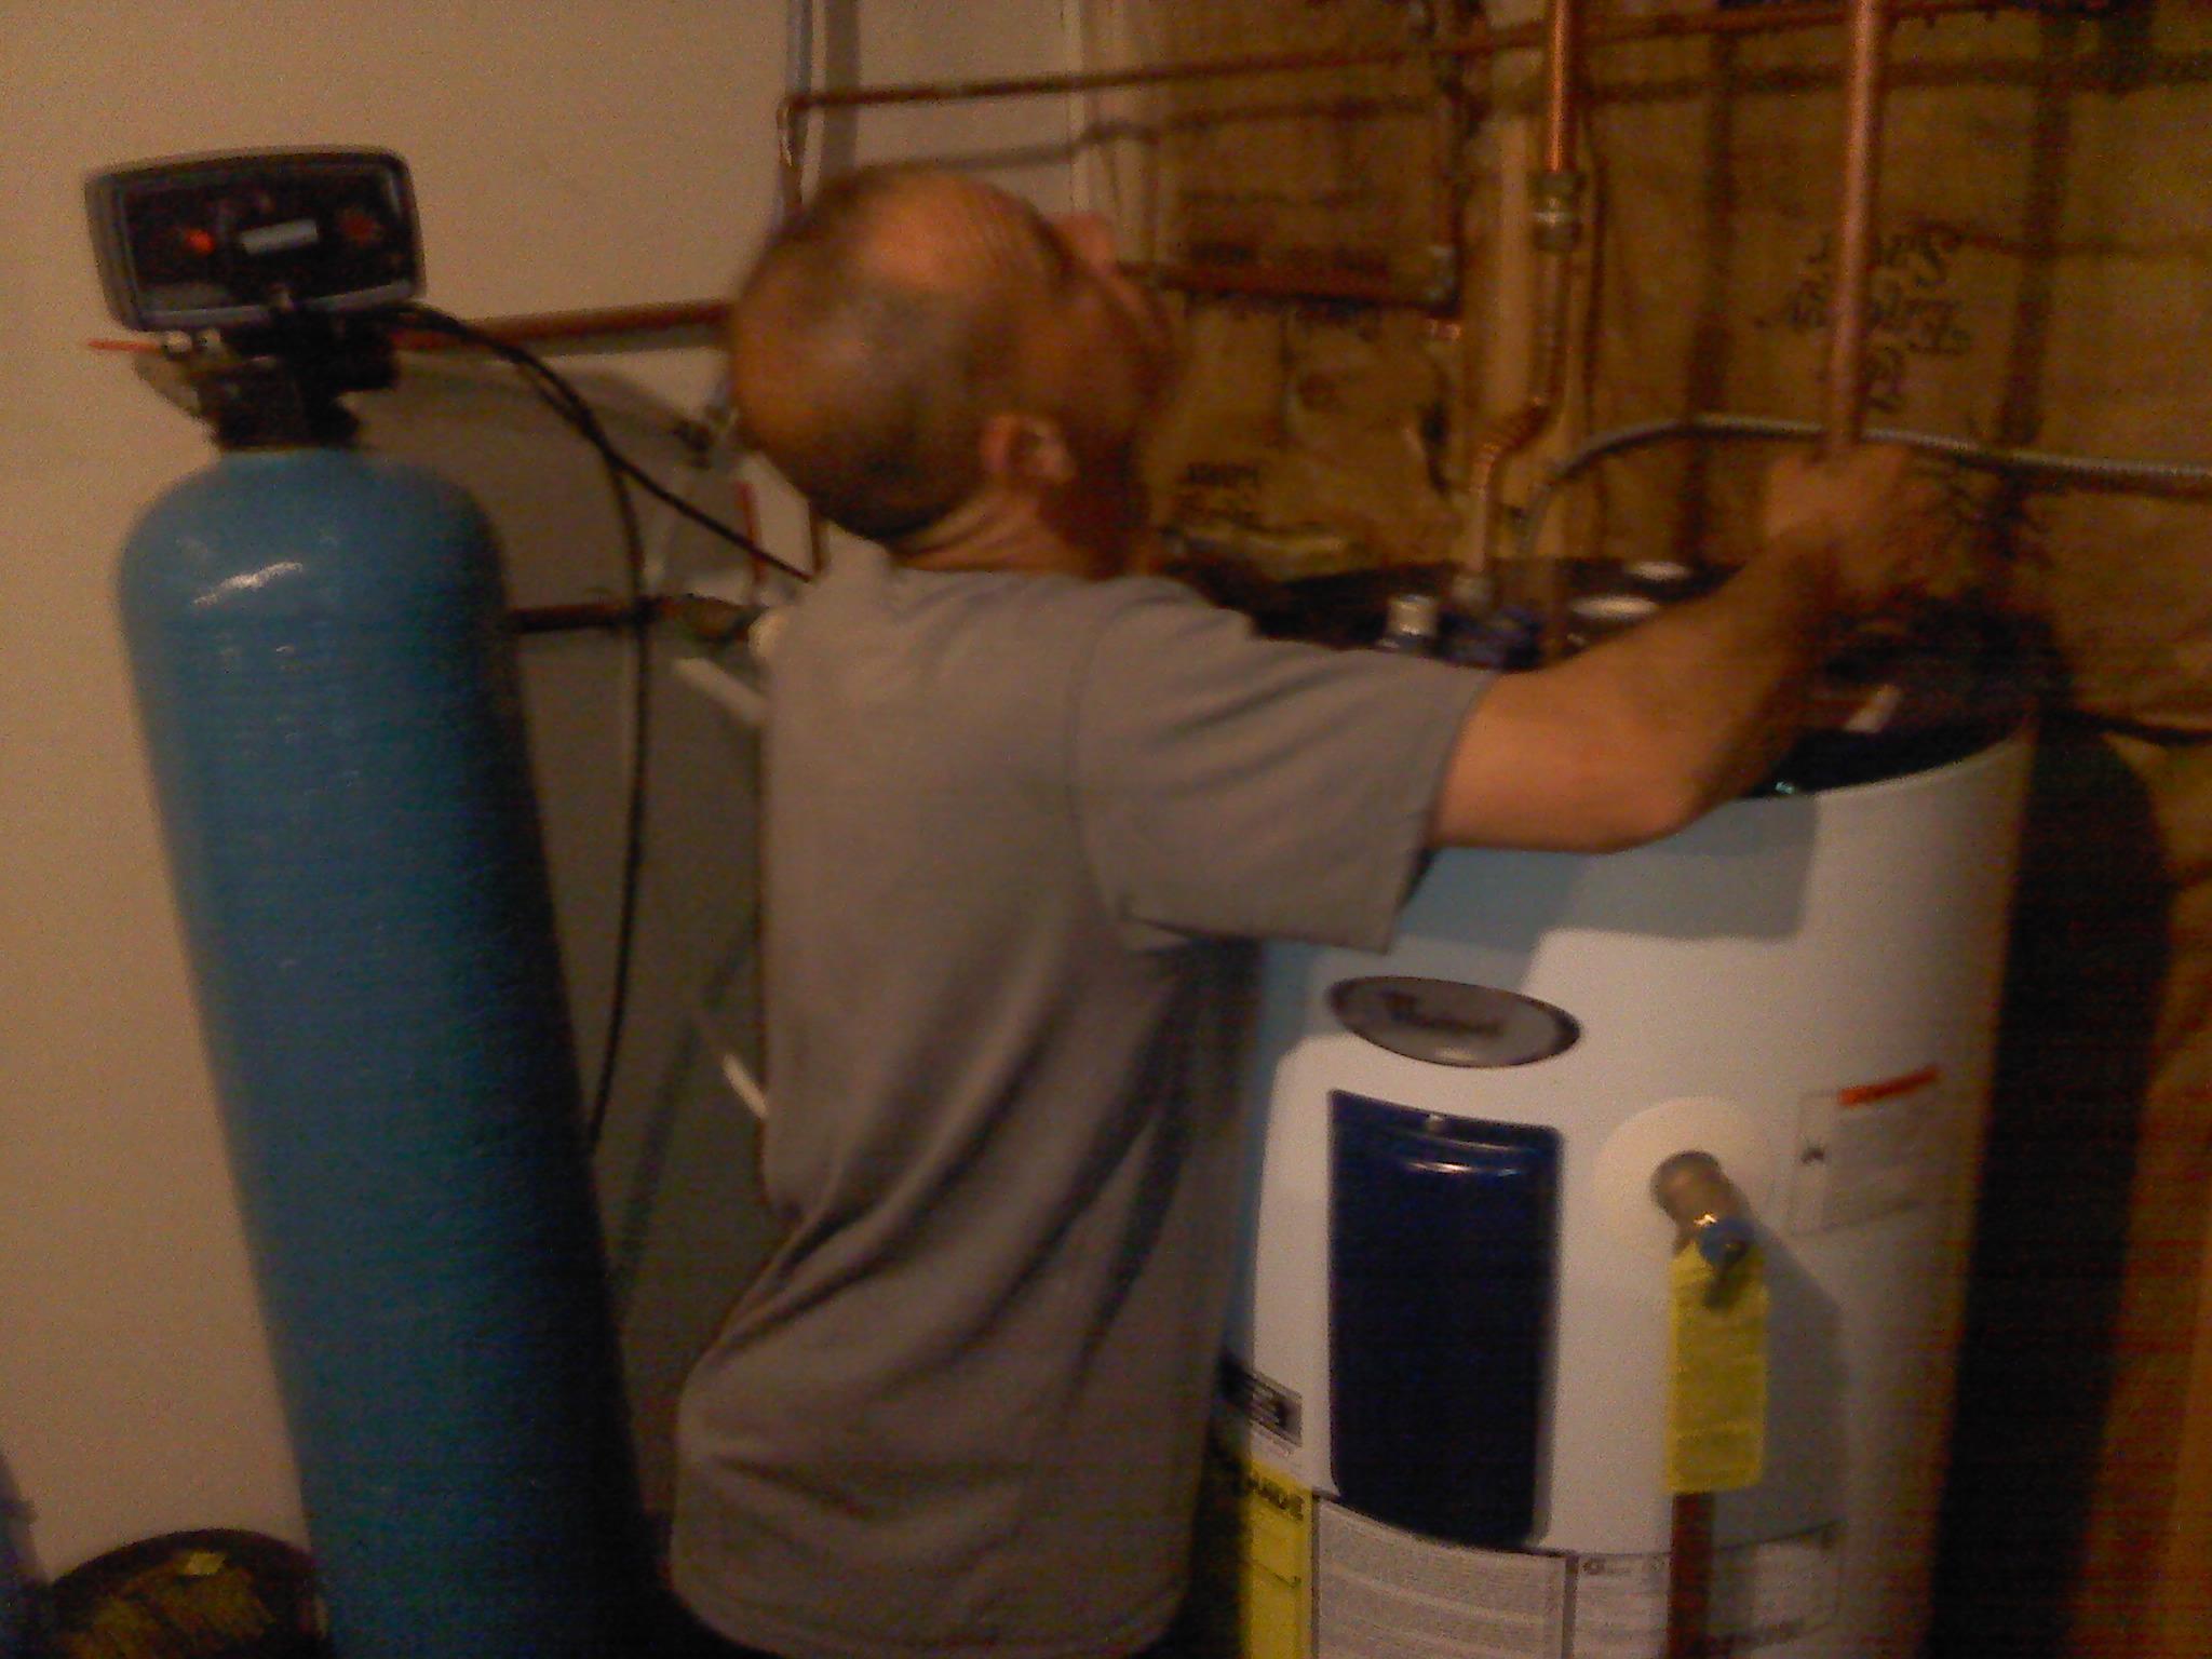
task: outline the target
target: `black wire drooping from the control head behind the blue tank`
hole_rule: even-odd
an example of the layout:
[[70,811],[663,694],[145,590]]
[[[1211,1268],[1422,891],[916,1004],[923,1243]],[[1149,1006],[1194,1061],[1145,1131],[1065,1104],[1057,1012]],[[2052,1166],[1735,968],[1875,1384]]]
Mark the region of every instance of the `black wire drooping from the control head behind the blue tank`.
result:
[[[646,770],[653,739],[653,630],[650,611],[644,602],[646,538],[637,524],[637,502],[630,498],[630,482],[644,480],[644,471],[615,449],[613,440],[606,436],[606,427],[599,425],[597,411],[584,400],[584,396],[533,352],[469,327],[458,316],[447,316],[429,305],[405,307],[403,321],[482,347],[484,352],[491,352],[493,356],[518,367],[531,389],[538,392],[538,396],[544,398],[544,403],[551,405],[551,409],[571,427],[575,427],[575,431],[597,451],[599,465],[606,471],[608,493],[615,500],[615,518],[622,526],[624,584],[628,588],[626,597],[630,599],[630,615],[635,617],[633,644],[637,648],[637,679],[630,688],[630,790],[628,801],[624,803],[622,827],[622,894],[615,914],[613,989],[608,991],[606,1040],[599,1048],[599,1073],[593,1082],[591,1110],[584,1124],[586,1144],[597,1148],[599,1137],[606,1133],[606,1115],[615,1097],[615,1068],[622,1060],[622,1040],[628,1029],[630,964],[637,953],[637,900],[646,867]],[[655,495],[672,500],[668,491],[661,491],[657,480],[650,480],[650,489]],[[688,509],[690,502],[684,502],[684,507]],[[752,549],[748,538],[726,524],[719,524],[706,513],[692,511],[690,515],[723,531],[739,546]]]

